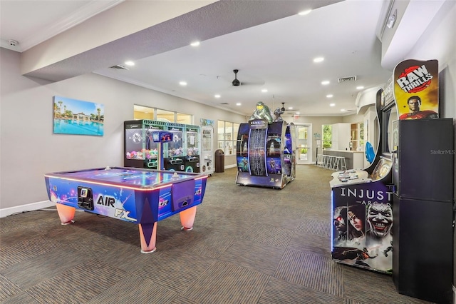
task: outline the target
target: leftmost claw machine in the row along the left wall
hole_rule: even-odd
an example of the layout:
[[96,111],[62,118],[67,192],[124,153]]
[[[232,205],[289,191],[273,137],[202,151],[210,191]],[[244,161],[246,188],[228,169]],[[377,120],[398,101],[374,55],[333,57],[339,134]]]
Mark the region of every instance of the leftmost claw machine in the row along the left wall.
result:
[[147,119],[124,121],[123,163],[125,167],[158,169],[157,143],[152,140],[152,132],[165,130],[163,121]]

